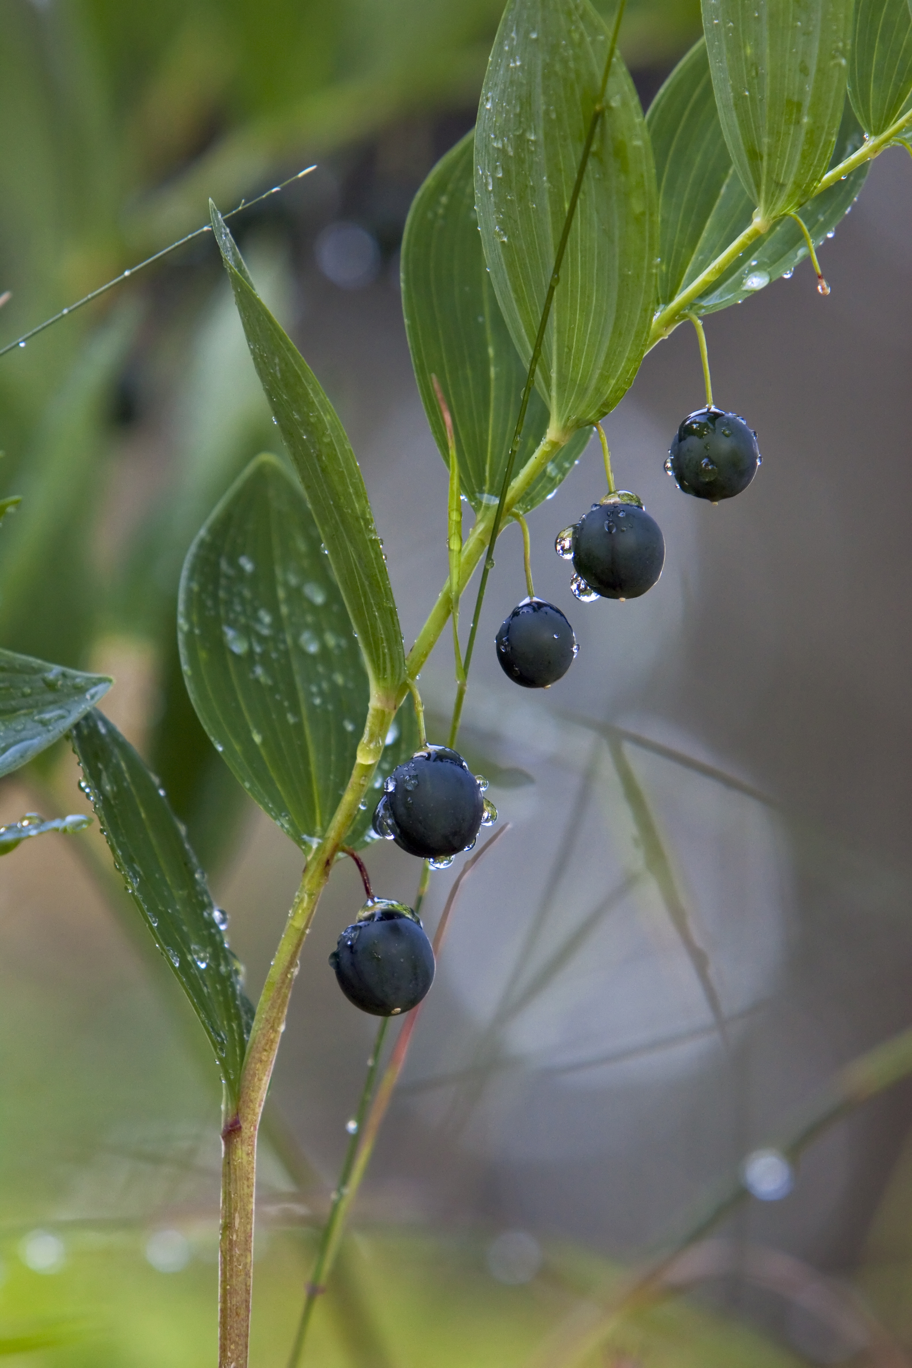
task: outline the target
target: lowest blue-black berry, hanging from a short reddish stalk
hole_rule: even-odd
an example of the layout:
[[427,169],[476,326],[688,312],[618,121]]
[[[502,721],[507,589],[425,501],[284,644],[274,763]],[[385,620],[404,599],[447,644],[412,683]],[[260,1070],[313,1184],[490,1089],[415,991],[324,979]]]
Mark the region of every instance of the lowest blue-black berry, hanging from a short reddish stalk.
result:
[[412,1011],[433,982],[433,951],[405,903],[375,897],[346,926],[330,955],[339,988],[373,1016]]

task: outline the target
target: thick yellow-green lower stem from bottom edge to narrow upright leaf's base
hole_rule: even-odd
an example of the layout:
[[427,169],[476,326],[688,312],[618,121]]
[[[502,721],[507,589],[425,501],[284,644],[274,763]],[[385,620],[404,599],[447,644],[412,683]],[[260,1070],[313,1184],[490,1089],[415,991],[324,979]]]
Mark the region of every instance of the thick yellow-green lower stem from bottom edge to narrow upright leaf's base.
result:
[[394,700],[375,699],[371,703],[351,777],[324,839],[305,866],[286,929],[260,995],[241,1074],[238,1109],[227,1118],[222,1133],[219,1368],[246,1368],[247,1364],[257,1127],[284,1030],[301,948],[335,858],[383,754],[394,713]]

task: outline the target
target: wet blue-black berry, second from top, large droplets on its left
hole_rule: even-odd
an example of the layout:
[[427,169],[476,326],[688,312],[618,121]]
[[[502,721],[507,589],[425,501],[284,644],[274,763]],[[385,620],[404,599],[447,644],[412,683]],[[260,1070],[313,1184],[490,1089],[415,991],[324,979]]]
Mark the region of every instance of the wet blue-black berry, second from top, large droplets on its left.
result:
[[582,580],[573,584],[577,598],[639,598],[663,565],[662,528],[636,495],[613,494],[593,503],[573,528],[573,568]]

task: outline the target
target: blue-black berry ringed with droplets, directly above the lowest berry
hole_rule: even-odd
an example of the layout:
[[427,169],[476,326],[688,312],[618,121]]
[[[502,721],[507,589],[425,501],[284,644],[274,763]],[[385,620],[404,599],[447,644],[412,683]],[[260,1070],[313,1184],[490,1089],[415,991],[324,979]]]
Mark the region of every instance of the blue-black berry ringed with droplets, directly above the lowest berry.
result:
[[496,819],[483,796],[487,787],[458,751],[428,746],[388,776],[373,829],[409,855],[448,863],[474,845],[481,825]]

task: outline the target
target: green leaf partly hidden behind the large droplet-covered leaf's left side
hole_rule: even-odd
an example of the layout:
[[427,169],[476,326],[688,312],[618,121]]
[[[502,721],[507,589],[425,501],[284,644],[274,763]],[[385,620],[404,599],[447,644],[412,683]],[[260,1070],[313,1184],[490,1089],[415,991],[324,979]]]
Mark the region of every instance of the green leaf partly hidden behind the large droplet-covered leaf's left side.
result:
[[[526,367],[494,294],[474,209],[474,133],[438,161],[418,190],[402,238],[402,312],[418,391],[431,431],[448,464],[447,434],[433,393],[436,375],[455,431],[462,492],[476,513],[500,494]],[[548,427],[535,390],[529,398],[521,471]],[[528,513],[556,490],[585,446],[581,431],[543,471],[517,512]]]

